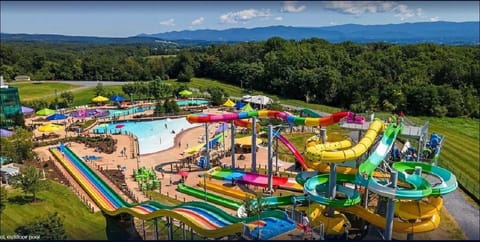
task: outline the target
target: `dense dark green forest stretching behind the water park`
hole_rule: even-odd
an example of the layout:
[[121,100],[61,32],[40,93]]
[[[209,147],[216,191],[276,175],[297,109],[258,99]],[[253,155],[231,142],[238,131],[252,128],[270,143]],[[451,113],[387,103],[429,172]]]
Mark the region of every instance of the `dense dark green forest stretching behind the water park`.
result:
[[33,80],[188,82],[197,76],[355,112],[480,117],[478,46],[274,37],[188,49],[2,43],[0,54],[0,73],[7,80],[30,75]]

